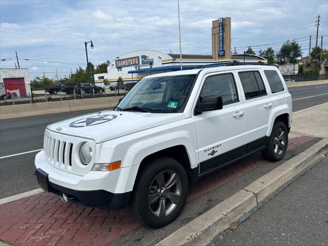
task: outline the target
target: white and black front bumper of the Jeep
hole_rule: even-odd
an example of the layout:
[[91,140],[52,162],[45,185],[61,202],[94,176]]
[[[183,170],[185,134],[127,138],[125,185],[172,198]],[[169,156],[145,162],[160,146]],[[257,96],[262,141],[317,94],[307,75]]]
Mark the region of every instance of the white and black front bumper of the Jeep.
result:
[[35,168],[46,176],[49,189],[38,178],[40,187],[60,197],[65,194],[72,203],[109,210],[124,208],[129,203],[138,166],[111,172],[90,171],[81,176],[53,167],[43,151],[35,156]]

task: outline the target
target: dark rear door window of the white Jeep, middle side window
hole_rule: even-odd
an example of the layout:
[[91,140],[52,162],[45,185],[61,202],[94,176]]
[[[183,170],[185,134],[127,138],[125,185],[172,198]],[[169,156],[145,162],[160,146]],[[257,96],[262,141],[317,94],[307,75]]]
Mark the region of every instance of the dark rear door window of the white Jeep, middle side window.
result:
[[258,71],[238,72],[246,99],[267,95]]

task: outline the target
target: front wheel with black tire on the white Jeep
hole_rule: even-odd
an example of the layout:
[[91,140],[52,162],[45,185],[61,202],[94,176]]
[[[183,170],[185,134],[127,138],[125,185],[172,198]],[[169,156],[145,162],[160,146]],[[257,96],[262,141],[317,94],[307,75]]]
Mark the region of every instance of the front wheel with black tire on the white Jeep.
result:
[[[142,167],[135,182],[134,191],[129,204],[130,210],[141,223],[145,224],[145,226],[161,228],[175,220],[182,211],[183,206],[185,206],[188,196],[187,173],[178,161],[169,157],[157,157],[148,161],[148,163],[144,163],[144,165],[146,166]],[[170,183],[170,178],[172,178],[172,180],[173,178],[177,179],[171,188],[166,189],[158,186],[157,179],[155,180],[155,178],[161,176],[162,173],[164,187]],[[157,183],[157,185],[154,186],[154,183]],[[151,190],[153,190],[153,193],[151,193]],[[175,195],[175,199],[177,199],[176,203],[173,203],[170,198],[172,194]],[[156,200],[150,205],[149,195],[157,195]],[[165,204],[164,214],[162,215],[160,204]],[[158,210],[157,216],[154,213],[157,212],[154,211],[155,208]]]

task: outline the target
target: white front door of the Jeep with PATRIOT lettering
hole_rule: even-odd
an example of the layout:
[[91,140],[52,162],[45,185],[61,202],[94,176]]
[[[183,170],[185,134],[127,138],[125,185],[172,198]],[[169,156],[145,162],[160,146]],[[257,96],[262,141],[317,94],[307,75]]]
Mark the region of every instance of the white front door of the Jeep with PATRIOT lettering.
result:
[[194,115],[199,174],[203,175],[242,156],[247,145],[247,109],[243,106],[235,72],[204,76],[200,97],[222,96],[223,108]]

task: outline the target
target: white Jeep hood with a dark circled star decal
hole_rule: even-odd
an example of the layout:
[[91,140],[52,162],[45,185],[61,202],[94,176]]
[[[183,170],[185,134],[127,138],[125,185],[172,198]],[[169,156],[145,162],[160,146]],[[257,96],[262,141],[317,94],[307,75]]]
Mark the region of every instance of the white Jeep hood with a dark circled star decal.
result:
[[47,129],[104,142],[185,118],[184,113],[157,114],[106,110],[62,120],[47,126]]

